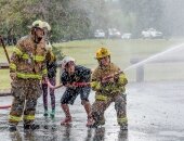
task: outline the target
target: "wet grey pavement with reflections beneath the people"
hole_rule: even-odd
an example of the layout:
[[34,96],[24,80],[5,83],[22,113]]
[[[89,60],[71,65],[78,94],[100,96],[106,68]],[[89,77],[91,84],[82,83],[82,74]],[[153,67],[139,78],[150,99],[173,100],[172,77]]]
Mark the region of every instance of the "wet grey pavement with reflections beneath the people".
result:
[[[183,141],[184,140],[184,82],[157,81],[129,84],[128,118],[129,131],[121,131],[116,121],[116,112],[111,104],[105,113],[106,124],[97,129],[86,127],[84,108],[78,98],[70,106],[73,125],[60,126],[64,113],[60,99],[64,89],[56,90],[56,117],[43,117],[42,98],[38,101],[36,123],[41,128],[36,131],[24,131],[18,124],[18,131],[8,130],[10,110],[0,110],[0,141]],[[11,97],[1,97],[0,104],[11,103]],[[90,94],[94,101],[94,92]]]

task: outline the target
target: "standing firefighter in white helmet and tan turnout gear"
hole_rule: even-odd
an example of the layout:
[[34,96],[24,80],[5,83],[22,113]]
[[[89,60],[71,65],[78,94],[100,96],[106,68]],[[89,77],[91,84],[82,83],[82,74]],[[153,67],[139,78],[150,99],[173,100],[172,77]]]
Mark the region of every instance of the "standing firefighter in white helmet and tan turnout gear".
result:
[[41,95],[40,80],[48,80],[45,64],[45,41],[42,21],[35,21],[30,34],[21,38],[14,48],[10,63],[12,95],[14,97],[9,116],[10,131],[16,131],[22,119],[24,129],[38,129],[34,123],[37,99]]

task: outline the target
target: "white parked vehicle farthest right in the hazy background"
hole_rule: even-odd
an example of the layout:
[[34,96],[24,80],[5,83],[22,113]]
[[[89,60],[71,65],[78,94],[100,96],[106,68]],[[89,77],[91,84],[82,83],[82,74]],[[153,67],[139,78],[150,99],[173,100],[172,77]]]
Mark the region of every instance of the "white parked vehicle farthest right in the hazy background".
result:
[[163,34],[154,28],[148,28],[147,30],[143,30],[141,33],[143,38],[162,38]]

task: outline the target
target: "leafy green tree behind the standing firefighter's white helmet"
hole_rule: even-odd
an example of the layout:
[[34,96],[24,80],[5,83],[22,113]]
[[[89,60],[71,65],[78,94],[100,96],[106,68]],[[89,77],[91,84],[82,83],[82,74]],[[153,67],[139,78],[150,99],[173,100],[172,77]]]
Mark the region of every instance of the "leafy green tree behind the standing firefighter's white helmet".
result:
[[[84,0],[83,0],[84,1]],[[14,30],[16,35],[26,35],[35,20],[49,22],[52,27],[52,40],[73,40],[88,37],[90,21],[81,1],[70,0],[0,0],[1,34]],[[62,39],[63,38],[63,39]]]

